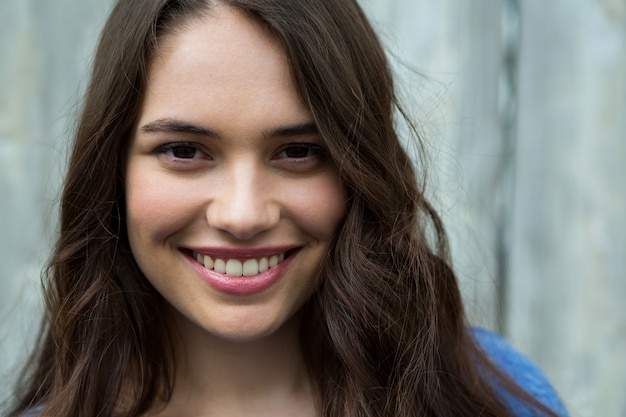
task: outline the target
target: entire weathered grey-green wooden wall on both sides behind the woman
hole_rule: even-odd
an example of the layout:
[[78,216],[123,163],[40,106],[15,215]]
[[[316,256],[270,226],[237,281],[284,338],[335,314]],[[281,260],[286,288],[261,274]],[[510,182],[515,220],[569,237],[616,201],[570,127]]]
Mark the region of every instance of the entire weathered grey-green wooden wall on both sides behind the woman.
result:
[[[0,0],[0,387],[34,331],[111,3]],[[430,142],[472,322],[537,361],[573,416],[626,415],[626,0],[361,3]]]

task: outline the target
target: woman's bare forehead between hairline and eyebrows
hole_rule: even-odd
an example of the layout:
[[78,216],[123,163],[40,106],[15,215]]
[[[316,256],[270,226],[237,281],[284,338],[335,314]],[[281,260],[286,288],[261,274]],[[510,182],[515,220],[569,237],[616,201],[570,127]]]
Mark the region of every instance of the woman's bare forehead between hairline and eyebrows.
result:
[[[225,6],[160,39],[148,72],[146,113],[198,122],[235,114],[268,123],[310,119],[281,44],[260,23]],[[290,120],[278,120],[281,115]]]

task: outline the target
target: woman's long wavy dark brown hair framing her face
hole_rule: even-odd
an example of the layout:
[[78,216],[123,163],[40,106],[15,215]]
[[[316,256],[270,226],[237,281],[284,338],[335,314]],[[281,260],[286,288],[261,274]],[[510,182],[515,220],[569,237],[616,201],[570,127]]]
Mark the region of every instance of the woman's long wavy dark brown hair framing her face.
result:
[[510,416],[501,390],[552,415],[468,331],[442,223],[394,128],[384,51],[353,0],[118,1],[75,135],[40,346],[11,415],[39,404],[58,417],[130,417],[171,395],[163,301],[126,237],[125,154],[159,39],[216,3],[282,43],[347,190],[347,217],[304,307],[322,415]]

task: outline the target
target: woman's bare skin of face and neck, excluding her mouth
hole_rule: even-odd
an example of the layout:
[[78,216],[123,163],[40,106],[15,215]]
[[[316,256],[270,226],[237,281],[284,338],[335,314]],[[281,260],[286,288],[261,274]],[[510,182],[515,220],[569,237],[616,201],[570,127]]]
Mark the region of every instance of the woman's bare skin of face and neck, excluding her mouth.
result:
[[[154,415],[316,414],[298,311],[345,214],[323,147],[257,23],[220,7],[162,39],[126,167],[131,249],[177,342],[174,395]],[[207,284],[190,256],[276,247],[297,250],[245,295]]]

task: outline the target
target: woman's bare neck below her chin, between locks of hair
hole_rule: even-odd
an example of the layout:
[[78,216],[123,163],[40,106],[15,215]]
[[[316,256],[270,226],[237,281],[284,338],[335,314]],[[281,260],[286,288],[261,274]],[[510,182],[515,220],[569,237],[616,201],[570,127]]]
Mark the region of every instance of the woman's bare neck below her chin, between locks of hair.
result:
[[187,320],[175,322],[176,381],[166,415],[315,414],[297,318],[243,342],[220,339]]

